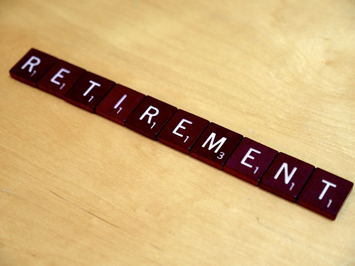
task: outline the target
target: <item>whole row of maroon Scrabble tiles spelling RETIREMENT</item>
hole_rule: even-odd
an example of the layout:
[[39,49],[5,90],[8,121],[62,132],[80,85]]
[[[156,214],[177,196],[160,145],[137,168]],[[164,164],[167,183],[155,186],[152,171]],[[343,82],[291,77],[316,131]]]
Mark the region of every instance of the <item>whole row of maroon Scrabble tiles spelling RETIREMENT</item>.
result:
[[33,48],[10,75],[329,219],[336,218],[354,185]]

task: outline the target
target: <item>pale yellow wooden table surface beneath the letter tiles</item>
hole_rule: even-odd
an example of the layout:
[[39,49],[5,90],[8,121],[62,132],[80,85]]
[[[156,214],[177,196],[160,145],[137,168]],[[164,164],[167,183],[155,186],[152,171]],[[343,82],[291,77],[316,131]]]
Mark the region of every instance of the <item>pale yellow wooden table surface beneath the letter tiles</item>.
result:
[[355,2],[0,3],[0,265],[355,265],[335,221],[21,83],[35,47],[355,182]]

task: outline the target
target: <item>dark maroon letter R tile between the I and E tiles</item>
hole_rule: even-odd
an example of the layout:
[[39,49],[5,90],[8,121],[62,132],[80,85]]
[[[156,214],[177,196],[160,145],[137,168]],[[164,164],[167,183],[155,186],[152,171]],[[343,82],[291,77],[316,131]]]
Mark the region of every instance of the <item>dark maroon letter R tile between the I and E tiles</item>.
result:
[[177,110],[176,107],[146,96],[137,108],[129,115],[126,126],[145,137],[157,140],[161,128]]

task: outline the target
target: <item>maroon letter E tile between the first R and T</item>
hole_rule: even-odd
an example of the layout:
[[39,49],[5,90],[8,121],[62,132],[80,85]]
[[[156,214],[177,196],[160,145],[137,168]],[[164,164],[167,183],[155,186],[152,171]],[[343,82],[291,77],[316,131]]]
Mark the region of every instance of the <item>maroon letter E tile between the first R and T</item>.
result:
[[58,60],[37,82],[37,86],[42,91],[63,98],[64,94],[84,73],[85,69]]

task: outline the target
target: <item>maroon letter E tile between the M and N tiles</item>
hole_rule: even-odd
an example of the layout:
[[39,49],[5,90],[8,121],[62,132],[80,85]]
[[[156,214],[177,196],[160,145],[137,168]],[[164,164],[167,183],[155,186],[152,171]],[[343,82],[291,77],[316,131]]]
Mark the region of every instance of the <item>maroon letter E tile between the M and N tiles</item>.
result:
[[258,186],[276,155],[276,150],[244,138],[227,160],[224,171]]

